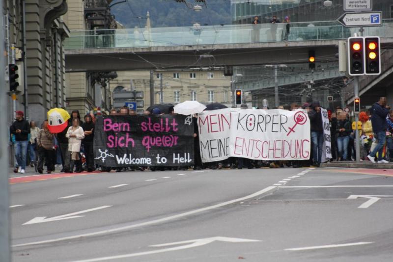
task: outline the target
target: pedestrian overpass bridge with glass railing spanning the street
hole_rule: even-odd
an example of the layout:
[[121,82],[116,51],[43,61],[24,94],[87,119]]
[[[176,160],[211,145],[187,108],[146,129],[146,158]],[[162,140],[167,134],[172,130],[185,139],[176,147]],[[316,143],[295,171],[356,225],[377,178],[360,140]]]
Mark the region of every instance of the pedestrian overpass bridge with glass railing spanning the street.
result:
[[[289,33],[287,26],[289,25]],[[74,31],[65,41],[67,72],[185,69],[337,60],[337,42],[358,32],[337,21]],[[391,48],[393,19],[365,27]]]

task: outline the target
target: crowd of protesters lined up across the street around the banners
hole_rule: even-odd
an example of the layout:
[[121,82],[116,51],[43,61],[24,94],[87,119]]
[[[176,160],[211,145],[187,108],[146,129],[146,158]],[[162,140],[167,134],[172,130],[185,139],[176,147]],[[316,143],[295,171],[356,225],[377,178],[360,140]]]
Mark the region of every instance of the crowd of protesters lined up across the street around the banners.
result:
[[[254,107],[253,107],[254,108]],[[257,108],[257,107],[256,107]],[[310,120],[311,155],[309,160],[294,161],[265,161],[251,160],[242,157],[230,157],[223,161],[202,163],[199,153],[199,137],[197,128],[197,118],[194,116],[194,150],[195,163],[192,168],[195,170],[210,169],[243,169],[261,167],[308,167],[319,166],[322,161],[322,150],[324,142],[321,106],[319,102],[311,104],[305,103],[298,105],[279,106],[279,109],[297,110],[303,108],[307,110]],[[247,105],[241,105],[241,109],[247,109]],[[257,108],[258,109],[258,108]],[[269,109],[267,107],[263,109]],[[173,114],[173,109],[170,111]],[[112,109],[110,115],[129,115],[135,116],[134,110],[128,107]],[[144,111],[143,115],[163,115],[159,108],[151,111]],[[331,161],[351,161],[355,160],[355,128],[354,117],[345,112],[341,107],[336,107],[334,111],[328,109],[331,131]],[[388,163],[393,161],[393,110],[386,105],[386,98],[372,105],[368,110],[359,113],[361,129],[359,136],[361,141],[360,156],[363,161],[377,163]],[[34,121],[28,123],[24,119],[23,111],[16,111],[16,121],[10,127],[11,141],[15,151],[15,173],[25,173],[27,162],[31,167],[36,165],[36,170],[43,173],[44,165],[47,173],[55,171],[56,166],[61,165],[60,172],[92,172],[95,170],[110,172],[133,171],[133,170],[185,170],[187,167],[154,167],[154,166],[130,166],[127,168],[119,167],[100,167],[94,164],[93,137],[94,137],[95,116],[86,114],[84,120],[81,119],[78,110],[71,112],[71,118],[64,131],[52,134],[48,130],[48,121],[45,120],[41,129],[36,126]],[[59,156],[59,157],[57,157]]]

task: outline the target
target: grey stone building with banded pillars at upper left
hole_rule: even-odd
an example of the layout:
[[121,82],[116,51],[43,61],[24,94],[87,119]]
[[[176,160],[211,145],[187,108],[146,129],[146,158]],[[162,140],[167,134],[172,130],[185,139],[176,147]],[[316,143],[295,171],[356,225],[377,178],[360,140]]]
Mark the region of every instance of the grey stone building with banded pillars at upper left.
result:
[[17,100],[13,103],[10,97],[9,108],[23,110],[26,119],[42,123],[50,108],[65,106],[63,41],[69,29],[62,15],[67,2],[5,0],[2,11],[6,60],[19,68]]

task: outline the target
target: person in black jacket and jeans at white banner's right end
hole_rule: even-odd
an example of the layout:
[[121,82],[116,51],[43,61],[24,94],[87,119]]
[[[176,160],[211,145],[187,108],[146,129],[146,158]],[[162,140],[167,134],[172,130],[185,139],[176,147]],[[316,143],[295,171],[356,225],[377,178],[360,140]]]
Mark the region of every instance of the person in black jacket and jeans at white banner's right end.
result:
[[309,111],[309,119],[311,126],[311,142],[312,142],[312,158],[313,164],[319,166],[322,158],[323,147],[323,127],[322,114],[319,102],[312,102]]

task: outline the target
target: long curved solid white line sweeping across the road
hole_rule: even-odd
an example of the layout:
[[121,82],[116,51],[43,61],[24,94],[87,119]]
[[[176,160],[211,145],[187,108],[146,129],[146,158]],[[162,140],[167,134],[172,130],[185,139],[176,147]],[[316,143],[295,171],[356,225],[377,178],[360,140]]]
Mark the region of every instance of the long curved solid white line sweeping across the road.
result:
[[159,219],[155,219],[155,220],[151,220],[151,221],[146,221],[146,222],[142,222],[142,223],[139,223],[139,224],[133,224],[133,225],[123,226],[123,227],[119,227],[119,228],[112,228],[112,229],[101,230],[101,231],[97,231],[97,232],[80,234],[80,235],[75,235],[75,236],[64,236],[64,237],[58,237],[58,238],[55,238],[55,239],[47,239],[47,240],[42,240],[42,241],[35,241],[35,242],[17,244],[17,245],[12,245],[12,247],[37,245],[37,244],[44,244],[44,243],[52,243],[52,242],[69,240],[69,239],[76,239],[76,238],[87,237],[87,236],[97,236],[97,235],[108,234],[108,233],[112,233],[112,232],[124,231],[124,230],[133,229],[133,228],[138,228],[138,227],[143,227],[143,226],[163,223],[163,222],[166,222],[166,221],[169,221],[169,220],[173,220],[173,219],[177,219],[177,218],[180,218],[180,217],[197,214],[197,213],[208,211],[208,210],[213,210],[213,209],[225,207],[225,206],[231,205],[233,203],[237,203],[237,202],[240,202],[240,201],[244,201],[246,199],[254,198],[256,196],[259,196],[259,195],[262,195],[262,194],[264,194],[266,192],[269,192],[269,191],[271,191],[271,190],[273,190],[275,188],[277,188],[277,186],[268,186],[268,187],[263,188],[263,189],[255,192],[255,193],[253,193],[251,195],[247,195],[247,196],[244,196],[244,197],[241,197],[241,198],[236,198],[236,199],[229,200],[229,201],[226,201],[226,202],[223,202],[223,203],[220,203],[220,204],[216,204],[216,205],[213,205],[213,206],[208,206],[206,208],[191,210],[191,211],[188,211],[188,212],[184,212],[184,213],[180,213],[180,214],[176,214],[176,215],[171,215],[171,216],[167,216],[167,217],[164,217],[164,218],[159,218]]

